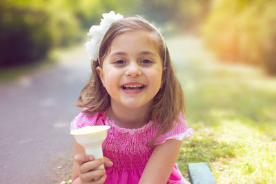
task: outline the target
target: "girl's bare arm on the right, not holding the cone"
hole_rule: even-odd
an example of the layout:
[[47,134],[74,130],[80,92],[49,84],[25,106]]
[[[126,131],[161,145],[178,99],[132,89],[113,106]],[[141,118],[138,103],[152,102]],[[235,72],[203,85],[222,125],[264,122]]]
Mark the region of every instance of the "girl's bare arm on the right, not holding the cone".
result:
[[167,183],[172,168],[177,161],[181,141],[170,139],[155,146],[145,170],[140,178],[142,183]]

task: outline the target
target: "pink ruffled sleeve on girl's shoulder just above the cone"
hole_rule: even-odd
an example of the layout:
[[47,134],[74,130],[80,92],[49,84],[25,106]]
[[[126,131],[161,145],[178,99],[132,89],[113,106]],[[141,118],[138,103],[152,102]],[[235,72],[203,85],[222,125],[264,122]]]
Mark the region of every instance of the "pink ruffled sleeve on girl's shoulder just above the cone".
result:
[[71,121],[70,131],[77,130],[85,126],[103,125],[105,119],[106,119],[106,116],[104,116],[103,112],[95,112],[94,114],[87,116],[86,114],[83,114],[83,112],[81,111]]

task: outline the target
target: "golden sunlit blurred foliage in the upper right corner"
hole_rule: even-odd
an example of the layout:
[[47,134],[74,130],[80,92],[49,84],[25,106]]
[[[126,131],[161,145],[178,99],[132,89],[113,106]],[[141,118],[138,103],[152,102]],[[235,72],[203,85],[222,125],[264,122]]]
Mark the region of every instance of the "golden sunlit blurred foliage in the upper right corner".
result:
[[264,65],[276,74],[276,1],[214,1],[203,30],[221,61]]

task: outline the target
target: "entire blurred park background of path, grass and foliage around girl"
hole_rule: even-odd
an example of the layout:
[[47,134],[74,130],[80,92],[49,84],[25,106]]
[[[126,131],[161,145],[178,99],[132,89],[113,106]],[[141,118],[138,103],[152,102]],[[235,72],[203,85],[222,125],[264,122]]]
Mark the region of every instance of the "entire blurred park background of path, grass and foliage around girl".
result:
[[[14,172],[14,182],[69,181],[68,128],[90,72],[83,43],[111,10],[139,14],[164,34],[195,131],[179,152],[182,173],[206,161],[217,183],[276,183],[273,0],[1,0],[0,181]],[[26,127],[34,131],[19,131]]]

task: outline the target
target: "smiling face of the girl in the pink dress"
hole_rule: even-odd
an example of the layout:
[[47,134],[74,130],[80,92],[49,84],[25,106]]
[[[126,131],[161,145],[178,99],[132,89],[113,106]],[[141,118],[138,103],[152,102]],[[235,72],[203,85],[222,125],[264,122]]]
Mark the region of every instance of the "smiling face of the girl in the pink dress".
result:
[[163,63],[155,34],[144,30],[119,34],[97,68],[112,105],[149,108],[161,88]]

